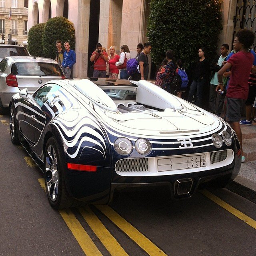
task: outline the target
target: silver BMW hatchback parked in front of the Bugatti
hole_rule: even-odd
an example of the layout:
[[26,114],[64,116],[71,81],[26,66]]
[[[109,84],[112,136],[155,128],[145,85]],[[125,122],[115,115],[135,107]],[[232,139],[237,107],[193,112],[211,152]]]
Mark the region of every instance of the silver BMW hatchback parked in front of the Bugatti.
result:
[[30,56],[4,58],[0,62],[0,114],[9,107],[13,94],[24,88],[33,94],[45,82],[61,78],[64,74],[55,60]]

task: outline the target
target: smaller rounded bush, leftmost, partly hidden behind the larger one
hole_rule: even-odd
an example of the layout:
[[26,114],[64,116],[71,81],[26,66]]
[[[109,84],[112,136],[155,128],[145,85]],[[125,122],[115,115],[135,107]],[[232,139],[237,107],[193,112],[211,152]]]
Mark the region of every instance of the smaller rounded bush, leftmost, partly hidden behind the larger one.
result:
[[44,57],[42,48],[42,34],[44,31],[45,23],[39,23],[32,26],[28,31],[28,51],[32,56]]

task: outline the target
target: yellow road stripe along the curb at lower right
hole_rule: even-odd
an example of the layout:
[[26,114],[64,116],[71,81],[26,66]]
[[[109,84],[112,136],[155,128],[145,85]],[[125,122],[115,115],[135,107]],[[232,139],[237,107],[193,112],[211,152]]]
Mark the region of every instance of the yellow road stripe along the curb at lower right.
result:
[[204,196],[208,197],[213,202],[215,202],[216,204],[218,204],[219,206],[221,206],[222,208],[224,208],[225,210],[227,210],[228,212],[232,213],[234,216],[236,216],[240,220],[244,221],[246,224],[248,224],[248,225],[250,225],[250,226],[252,226],[253,228],[256,229],[256,221],[253,220],[252,218],[250,218],[247,215],[243,214],[239,210],[236,210],[236,208],[234,208],[231,205],[227,204],[226,202],[224,202],[223,200],[221,200],[220,198],[218,198],[217,196],[215,196],[214,194],[212,194],[208,190],[203,190],[203,191],[201,191],[201,193]]

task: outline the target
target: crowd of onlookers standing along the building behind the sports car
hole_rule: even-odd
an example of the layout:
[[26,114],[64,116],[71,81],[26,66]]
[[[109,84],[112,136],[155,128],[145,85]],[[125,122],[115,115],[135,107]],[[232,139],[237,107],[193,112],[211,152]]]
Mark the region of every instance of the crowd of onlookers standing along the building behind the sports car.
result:
[[[194,72],[188,91],[188,102],[193,102],[202,107],[204,92],[209,91],[208,111],[221,116],[230,123],[238,135],[241,144],[242,162],[245,161],[242,151],[242,133],[240,125],[251,125],[256,122],[256,53],[250,50],[254,43],[254,33],[242,29],[236,34],[233,42],[233,50],[228,54],[228,44],[222,44],[220,54],[211,61],[207,56],[206,48],[198,49]],[[76,55],[70,49],[68,42],[64,43],[65,51],[61,48],[61,42],[56,42],[56,61],[62,66],[66,77],[70,76],[72,66],[76,62]],[[149,75],[148,54],[152,45],[149,42],[137,45],[138,72],[130,75],[126,64],[131,59],[127,45],[120,47],[120,55],[116,54],[114,46],[110,46],[109,53],[100,43],[92,52],[90,61],[94,78],[121,78],[130,80],[147,80]],[[157,66],[156,82],[164,90],[181,97],[182,90],[172,88],[172,82],[179,70],[185,72],[182,60],[176,61],[173,50],[166,51],[166,58]],[[242,108],[246,106],[246,119],[241,120]]]

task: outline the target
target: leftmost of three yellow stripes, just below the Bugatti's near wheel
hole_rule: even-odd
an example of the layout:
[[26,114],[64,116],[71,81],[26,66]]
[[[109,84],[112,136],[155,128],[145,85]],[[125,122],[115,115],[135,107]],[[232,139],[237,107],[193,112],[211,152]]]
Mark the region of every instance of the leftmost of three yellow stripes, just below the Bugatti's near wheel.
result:
[[59,210],[59,212],[86,256],[102,256],[101,252],[71,210]]

